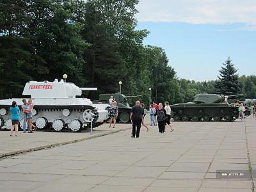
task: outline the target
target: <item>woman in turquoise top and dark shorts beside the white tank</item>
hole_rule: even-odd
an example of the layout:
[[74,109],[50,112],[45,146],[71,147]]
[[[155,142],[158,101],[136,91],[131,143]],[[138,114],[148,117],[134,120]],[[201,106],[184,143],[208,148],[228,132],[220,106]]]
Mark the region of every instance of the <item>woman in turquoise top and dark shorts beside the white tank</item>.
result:
[[12,120],[12,128],[11,128],[11,134],[10,136],[13,136],[13,130],[15,129],[15,136],[18,136],[18,125],[20,121],[20,108],[17,106],[17,102],[13,101],[12,102],[12,107],[10,107],[10,112],[12,113],[11,115],[11,120]]

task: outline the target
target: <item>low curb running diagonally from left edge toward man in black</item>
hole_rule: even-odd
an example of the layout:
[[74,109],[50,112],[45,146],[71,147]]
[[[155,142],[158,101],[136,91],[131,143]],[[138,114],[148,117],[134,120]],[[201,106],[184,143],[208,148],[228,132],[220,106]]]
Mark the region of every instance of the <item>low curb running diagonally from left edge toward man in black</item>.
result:
[[60,147],[62,145],[68,145],[68,144],[71,144],[71,143],[78,143],[78,142],[81,142],[81,141],[92,140],[93,138],[99,138],[99,137],[102,137],[102,136],[106,136],[108,134],[113,134],[113,133],[116,133],[116,132],[126,131],[126,130],[129,130],[129,129],[131,129],[131,127],[118,129],[118,130],[110,131],[110,132],[104,132],[104,133],[101,133],[101,134],[95,134],[95,135],[88,136],[86,138],[81,138],[81,139],[78,139],[78,140],[63,141],[61,143],[53,143],[53,144],[50,144],[50,145],[44,145],[44,146],[40,146],[40,147],[34,147],[34,148],[29,148],[29,149],[24,149],[24,150],[17,150],[15,152],[9,152],[9,153],[6,153],[6,154],[1,154],[0,155],[0,161],[2,159],[6,159],[8,157],[18,156],[19,154],[25,154],[25,153],[28,153],[28,152],[44,150],[44,149],[47,149],[47,148]]

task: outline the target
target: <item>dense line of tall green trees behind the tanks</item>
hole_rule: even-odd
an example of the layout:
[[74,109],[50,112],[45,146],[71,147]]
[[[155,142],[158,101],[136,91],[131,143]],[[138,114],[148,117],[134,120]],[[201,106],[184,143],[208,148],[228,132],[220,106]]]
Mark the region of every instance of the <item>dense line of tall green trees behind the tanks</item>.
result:
[[[198,92],[221,93],[220,79],[179,79],[161,47],[143,45],[149,31],[136,29],[138,2],[0,1],[0,99],[22,97],[28,81],[53,81],[63,74],[77,86],[97,87],[84,93],[93,100],[118,92],[119,81],[122,93],[142,95],[146,103],[148,88],[152,100],[170,103],[191,101]],[[239,90],[231,92],[255,98],[256,77],[236,78]]]

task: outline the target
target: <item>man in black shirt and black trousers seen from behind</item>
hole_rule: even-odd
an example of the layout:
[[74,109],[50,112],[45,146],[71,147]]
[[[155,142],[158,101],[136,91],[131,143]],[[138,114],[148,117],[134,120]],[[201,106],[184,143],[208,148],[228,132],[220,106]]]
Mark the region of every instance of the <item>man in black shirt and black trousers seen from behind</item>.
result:
[[[136,101],[136,105],[132,107],[131,109],[131,115],[130,119],[132,120],[132,138],[139,138],[140,136],[140,127],[141,127],[141,122],[143,118],[143,108],[140,106],[140,101]],[[137,127],[137,131],[136,131]]]

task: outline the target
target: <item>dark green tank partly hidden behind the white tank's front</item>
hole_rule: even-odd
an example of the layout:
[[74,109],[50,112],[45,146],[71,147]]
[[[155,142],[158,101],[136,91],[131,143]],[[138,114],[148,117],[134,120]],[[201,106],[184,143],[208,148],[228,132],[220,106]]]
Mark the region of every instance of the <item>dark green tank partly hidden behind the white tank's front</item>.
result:
[[116,118],[116,121],[118,123],[127,124],[130,123],[130,113],[131,113],[131,106],[129,105],[128,99],[132,97],[141,97],[141,95],[136,96],[125,96],[120,93],[106,93],[106,94],[100,94],[99,100],[94,100],[93,103],[99,103],[102,102],[103,104],[109,104],[109,98],[110,96],[113,96],[113,99],[117,102],[118,106],[118,116]]

